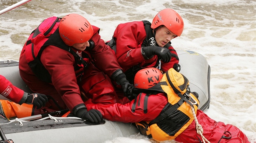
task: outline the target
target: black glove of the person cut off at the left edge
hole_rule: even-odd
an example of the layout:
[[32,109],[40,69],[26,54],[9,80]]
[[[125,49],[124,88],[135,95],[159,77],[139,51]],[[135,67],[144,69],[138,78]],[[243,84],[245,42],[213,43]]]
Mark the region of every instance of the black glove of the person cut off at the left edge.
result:
[[40,93],[28,93],[28,97],[25,101],[25,103],[36,105],[37,109],[45,106],[46,102],[48,102],[46,95]]

